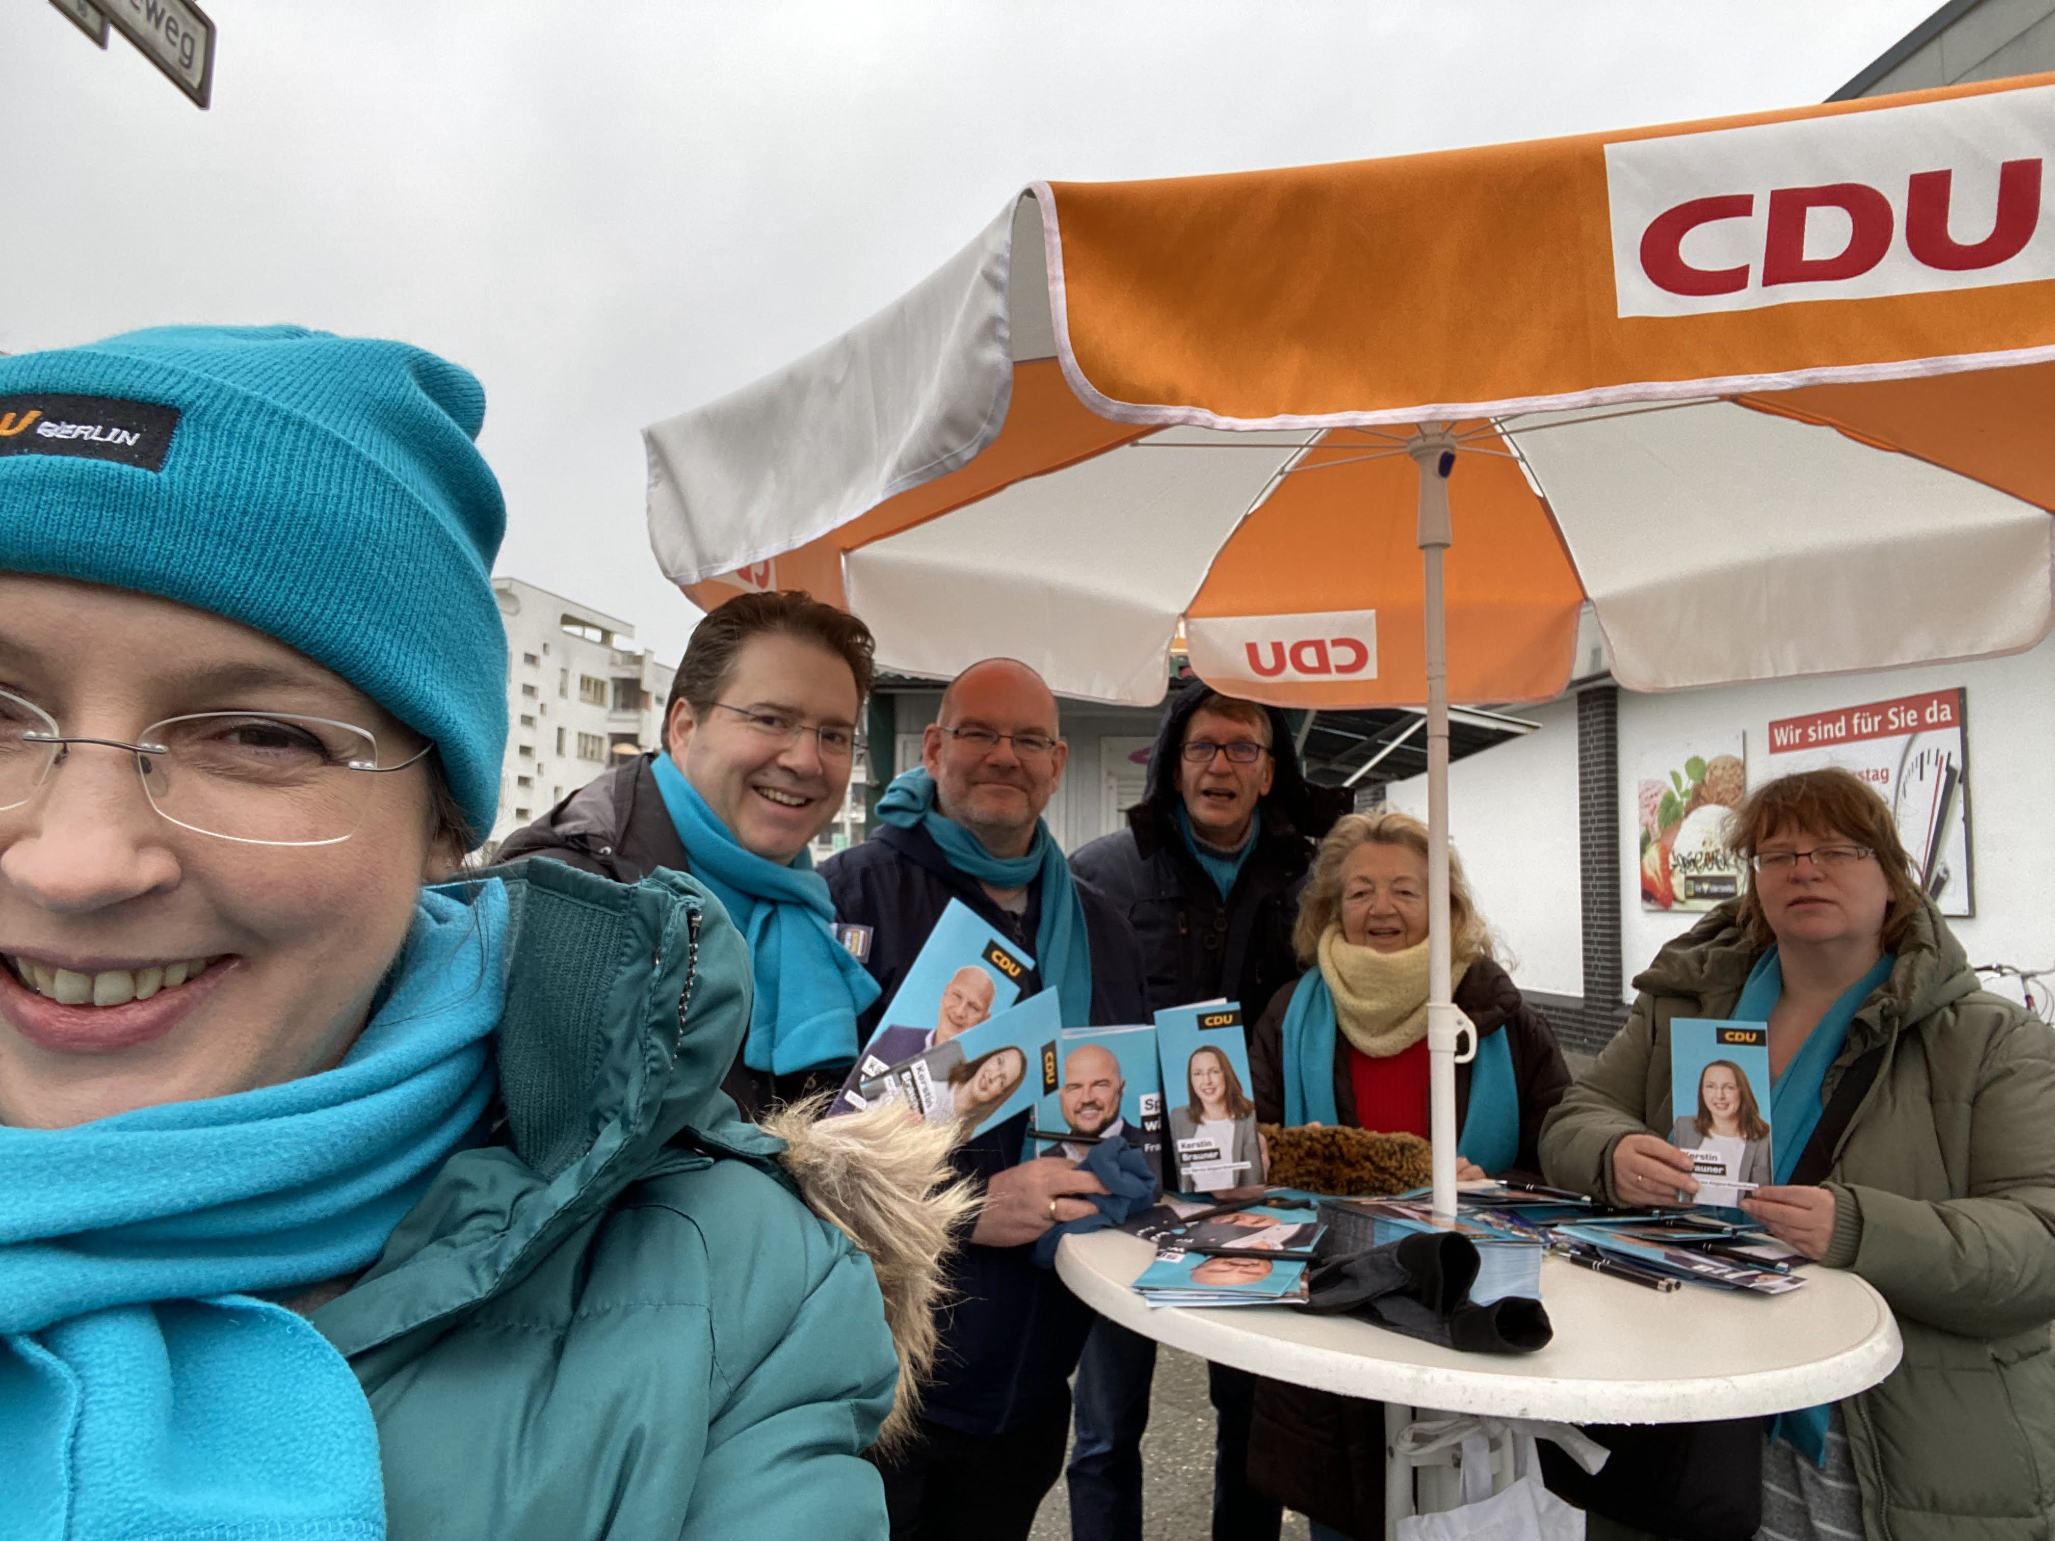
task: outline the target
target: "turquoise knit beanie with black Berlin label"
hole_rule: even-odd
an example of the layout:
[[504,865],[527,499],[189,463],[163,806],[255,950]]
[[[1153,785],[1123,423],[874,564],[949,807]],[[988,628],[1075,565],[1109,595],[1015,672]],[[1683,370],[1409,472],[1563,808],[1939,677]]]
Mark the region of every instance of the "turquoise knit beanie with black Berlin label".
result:
[[473,830],[506,752],[485,390],[405,343],[158,327],[0,358],[0,569],[240,621],[434,740]]

